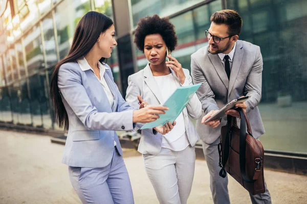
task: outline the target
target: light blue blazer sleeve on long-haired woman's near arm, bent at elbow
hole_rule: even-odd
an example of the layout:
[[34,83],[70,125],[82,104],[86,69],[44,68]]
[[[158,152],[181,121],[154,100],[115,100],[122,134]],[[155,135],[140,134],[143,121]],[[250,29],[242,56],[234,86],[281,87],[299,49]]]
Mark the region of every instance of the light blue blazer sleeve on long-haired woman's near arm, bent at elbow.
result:
[[61,65],[58,87],[62,98],[88,130],[133,130],[133,110],[98,112],[82,85],[81,70],[69,63]]

